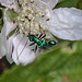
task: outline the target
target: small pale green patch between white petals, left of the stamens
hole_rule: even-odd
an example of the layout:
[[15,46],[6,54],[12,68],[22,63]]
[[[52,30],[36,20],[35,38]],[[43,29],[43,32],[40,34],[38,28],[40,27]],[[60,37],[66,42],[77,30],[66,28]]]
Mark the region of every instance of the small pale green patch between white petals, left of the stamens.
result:
[[11,21],[11,22],[13,22],[13,21],[16,21],[16,17],[17,17],[17,13],[15,12],[15,11],[13,11],[13,10],[8,10],[7,11],[7,19],[9,20],[9,21]]

